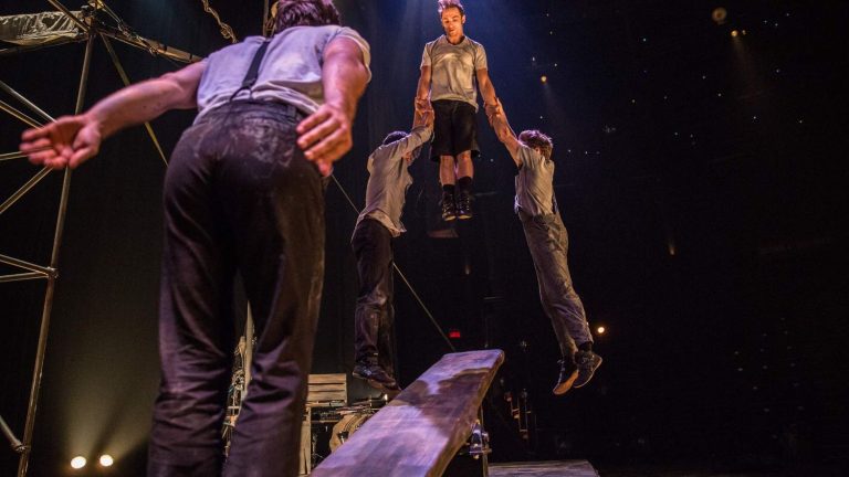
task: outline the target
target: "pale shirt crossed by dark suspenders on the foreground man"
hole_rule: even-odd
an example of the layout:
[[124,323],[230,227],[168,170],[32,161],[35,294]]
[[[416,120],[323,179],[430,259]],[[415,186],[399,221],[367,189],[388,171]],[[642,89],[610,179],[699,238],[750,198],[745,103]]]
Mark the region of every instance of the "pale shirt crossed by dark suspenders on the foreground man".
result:
[[[275,34],[269,44],[252,88],[253,98],[287,103],[307,115],[314,113],[324,103],[324,49],[336,38],[346,38],[357,43],[368,68],[369,46],[356,31],[339,25],[287,28]],[[198,86],[198,118],[230,100],[230,96],[242,85],[253,55],[263,40],[262,36],[249,36],[203,60],[207,68]],[[249,97],[250,93],[243,91],[233,99]]]

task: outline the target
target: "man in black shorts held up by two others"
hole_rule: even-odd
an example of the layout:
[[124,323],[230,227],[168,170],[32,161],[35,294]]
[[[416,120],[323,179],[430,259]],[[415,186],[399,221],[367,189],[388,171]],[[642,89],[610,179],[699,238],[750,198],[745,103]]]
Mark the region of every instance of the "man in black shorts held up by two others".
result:
[[462,3],[440,0],[438,12],[446,34],[424,45],[416,110],[434,112],[430,156],[439,161],[442,220],[452,221],[472,218],[472,158],[480,155],[476,89],[490,104],[495,102],[495,87],[483,45],[463,34]]

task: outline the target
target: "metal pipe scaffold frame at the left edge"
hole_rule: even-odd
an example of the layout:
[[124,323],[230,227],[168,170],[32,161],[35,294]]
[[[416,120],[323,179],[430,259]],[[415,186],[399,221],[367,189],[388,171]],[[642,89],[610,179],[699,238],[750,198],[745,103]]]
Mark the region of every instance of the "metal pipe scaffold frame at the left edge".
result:
[[[90,0],[88,4],[83,7],[82,15],[81,15],[82,18],[78,18],[73,12],[71,12],[67,8],[65,8],[62,3],[60,3],[59,0],[46,0],[46,1],[53,8],[55,8],[56,10],[59,10],[60,12],[69,17],[80,29],[80,33],[75,38],[65,39],[60,42],[53,43],[49,46],[85,42],[85,54],[83,57],[83,66],[80,75],[80,85],[77,88],[76,105],[74,107],[74,114],[80,114],[83,109],[83,105],[85,102],[85,93],[86,93],[87,83],[88,83],[88,74],[90,74],[91,63],[92,63],[92,55],[94,51],[94,43],[98,38],[103,41],[106,47],[106,51],[109,54],[109,57],[112,59],[112,62],[115,65],[115,68],[125,85],[129,84],[129,78],[127,77],[124,71],[124,67],[122,66],[118,60],[118,56],[115,53],[115,50],[112,47],[112,43],[109,42],[109,39],[114,39],[123,43],[126,43],[130,46],[145,50],[149,52],[151,55],[161,56],[176,62],[191,63],[200,60],[199,56],[195,56],[190,53],[169,47],[158,41],[148,40],[143,36],[139,36],[126,23],[124,23],[124,21],[120,20],[120,18],[118,18],[118,15],[115,14],[115,12],[112,11],[112,9],[109,9],[109,7],[106,6],[102,0]],[[103,21],[103,19],[106,17],[109,19],[109,22],[114,24],[107,24],[105,21]],[[0,55],[25,53],[29,51],[41,50],[43,47],[48,47],[48,46],[31,45],[31,46],[9,47],[9,49],[0,50]],[[24,105],[28,109],[30,109],[30,112],[32,112],[35,116],[40,117],[42,120],[44,121],[54,120],[53,117],[44,113],[41,108],[39,108],[33,103],[28,100],[23,95],[12,89],[9,85],[3,83],[2,81],[0,81],[0,89],[2,89],[8,95],[12,96],[22,105]],[[3,100],[0,100],[0,109],[10,114],[12,117],[21,120],[22,123],[27,124],[30,127],[40,127],[43,125],[43,123],[40,123],[39,120],[32,118],[31,116],[28,116],[23,112],[14,108],[13,106],[4,103]],[[163,161],[167,166],[165,153],[163,152],[163,149],[159,146],[159,141],[156,138],[156,134],[154,132],[149,124],[145,124],[145,127],[147,129],[148,135],[150,136],[150,139],[154,142],[154,146],[156,147],[159,153],[159,157],[163,159]],[[21,153],[20,151],[0,153],[0,161],[19,159],[23,157],[24,155]],[[21,199],[24,194],[27,194],[27,192],[32,190],[50,172],[51,172],[51,169],[48,169],[48,168],[41,169],[30,180],[28,180],[23,186],[21,186],[20,189],[13,192],[8,199],[0,202],[0,214],[6,212],[19,199]],[[59,269],[57,269],[59,252],[62,245],[62,237],[63,237],[64,225],[65,225],[65,216],[67,213],[67,200],[69,200],[70,191],[71,191],[71,170],[65,169],[64,178],[62,181],[62,191],[60,195],[59,211],[56,213],[56,224],[55,224],[54,234],[53,234],[53,245],[52,245],[51,256],[48,265],[38,265],[34,263],[30,263],[28,261],[0,254],[0,263],[10,265],[20,271],[20,273],[0,275],[0,283],[32,280],[32,279],[46,279],[48,282],[48,286],[44,292],[44,301],[43,301],[43,307],[41,312],[41,325],[39,329],[39,339],[38,339],[36,351],[35,351],[35,362],[33,364],[33,371],[32,371],[32,383],[30,388],[30,399],[29,399],[29,404],[27,409],[27,421],[25,421],[24,431],[23,431],[23,441],[19,441],[14,436],[12,431],[9,428],[9,426],[6,424],[6,422],[2,420],[2,417],[0,417],[0,427],[2,430],[2,433],[9,439],[12,446],[12,449],[14,449],[15,453],[20,454],[20,460],[18,465],[18,477],[24,477],[27,475],[29,457],[32,451],[33,431],[35,426],[35,411],[36,411],[36,405],[39,401],[39,392],[41,389],[42,370],[44,368],[44,354],[46,351],[48,335],[50,329],[50,318],[53,309],[53,296],[56,287],[56,278],[59,277]]]

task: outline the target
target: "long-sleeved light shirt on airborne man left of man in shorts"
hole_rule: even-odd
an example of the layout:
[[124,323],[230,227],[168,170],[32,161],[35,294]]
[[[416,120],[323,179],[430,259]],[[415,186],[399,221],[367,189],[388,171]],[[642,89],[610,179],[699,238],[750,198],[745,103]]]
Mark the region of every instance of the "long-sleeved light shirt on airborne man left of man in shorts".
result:
[[403,155],[415,150],[430,139],[432,129],[424,126],[413,128],[407,137],[386,146],[380,146],[368,157],[368,186],[366,186],[366,206],[360,212],[357,223],[369,218],[380,222],[398,236],[407,232],[401,223],[401,212],[407,188],[412,183],[409,163]]

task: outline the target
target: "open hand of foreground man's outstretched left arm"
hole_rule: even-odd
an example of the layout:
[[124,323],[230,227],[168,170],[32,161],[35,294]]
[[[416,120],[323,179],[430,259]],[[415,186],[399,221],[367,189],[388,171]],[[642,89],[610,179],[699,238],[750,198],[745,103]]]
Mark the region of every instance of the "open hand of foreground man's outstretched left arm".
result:
[[86,115],[63,116],[21,135],[21,152],[30,162],[51,169],[76,168],[101,149],[103,135],[97,121]]

